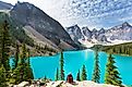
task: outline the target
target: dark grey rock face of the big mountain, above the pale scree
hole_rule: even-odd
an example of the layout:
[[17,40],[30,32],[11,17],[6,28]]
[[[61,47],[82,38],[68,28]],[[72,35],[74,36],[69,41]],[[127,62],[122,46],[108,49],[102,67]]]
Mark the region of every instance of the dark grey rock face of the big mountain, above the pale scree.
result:
[[[49,39],[56,46],[64,41],[74,49],[80,47],[71,39],[61,24],[47,15],[34,4],[27,2],[16,3],[10,12],[11,17],[23,26],[31,26],[37,33]],[[63,49],[63,47],[61,47]],[[70,48],[69,48],[70,49]]]

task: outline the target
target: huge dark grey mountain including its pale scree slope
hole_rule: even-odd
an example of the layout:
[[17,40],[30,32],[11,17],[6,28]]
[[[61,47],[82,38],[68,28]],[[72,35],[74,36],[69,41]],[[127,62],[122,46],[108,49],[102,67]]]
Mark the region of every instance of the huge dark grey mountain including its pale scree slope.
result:
[[56,49],[80,49],[59,22],[28,2],[17,2],[10,11],[10,16],[21,25],[29,37],[41,46]]

